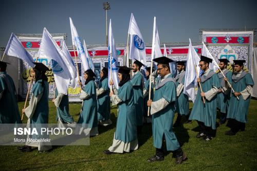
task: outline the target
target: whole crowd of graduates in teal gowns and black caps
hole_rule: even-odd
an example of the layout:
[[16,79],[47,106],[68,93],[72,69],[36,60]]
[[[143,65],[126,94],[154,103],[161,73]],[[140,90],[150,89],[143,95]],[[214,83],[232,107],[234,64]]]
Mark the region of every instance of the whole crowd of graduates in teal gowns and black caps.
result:
[[[165,151],[172,151],[175,156],[175,163],[181,164],[187,160],[186,153],[182,150],[174,134],[173,127],[181,126],[181,118],[185,117],[185,123],[197,121],[200,131],[196,138],[206,141],[213,140],[213,130],[218,124],[224,124],[230,128],[227,136],[233,136],[238,131],[244,131],[247,123],[247,113],[251,99],[252,87],[254,85],[252,75],[243,70],[244,60],[234,60],[233,72],[227,69],[229,61],[219,60],[221,72],[214,72],[209,69],[212,60],[201,56],[199,67],[203,71],[197,79],[197,95],[193,108],[189,110],[189,97],[183,93],[186,74],[186,61],[177,61],[176,75],[170,71],[169,63],[173,60],[162,56],[153,60],[157,63],[156,70],[144,66],[141,62],[135,61],[132,68],[118,66],[119,88],[115,86],[110,90],[108,85],[114,85],[113,81],[108,82],[108,69],[102,68],[101,80],[97,85],[95,73],[88,69],[84,72],[84,84],[80,99],[82,109],[78,124],[87,124],[90,128],[90,136],[97,136],[98,126],[108,126],[111,121],[111,104],[118,106],[118,117],[116,130],[111,146],[104,153],[130,153],[138,149],[138,135],[142,132],[144,123],[152,123],[153,146],[156,154],[146,159],[148,162],[161,161],[164,159]],[[6,73],[8,63],[0,62],[0,123],[21,123],[21,115],[17,106],[15,86],[12,78]],[[32,95],[29,106],[22,109],[28,117],[28,124],[48,123],[48,82],[45,72],[49,70],[42,63],[34,63],[31,75],[34,78]],[[145,67],[147,80],[144,82],[141,67]],[[131,70],[133,77],[131,77]],[[232,85],[233,91],[230,88]],[[151,89],[150,89],[151,87]],[[202,92],[201,92],[202,89]],[[149,93],[151,91],[151,100]],[[58,125],[68,124],[76,127],[75,120],[69,114],[68,95],[58,93],[56,89],[55,98],[52,100],[57,107]],[[112,102],[112,103],[111,103]],[[40,105],[38,105],[40,104]],[[150,115],[148,116],[148,108]],[[221,113],[219,123],[216,123],[217,109]],[[173,119],[177,113],[177,119]],[[83,134],[85,127],[77,128],[79,134]],[[31,151],[31,147],[38,147],[39,151],[47,151],[51,146],[40,143],[26,143],[18,147],[21,151]]]

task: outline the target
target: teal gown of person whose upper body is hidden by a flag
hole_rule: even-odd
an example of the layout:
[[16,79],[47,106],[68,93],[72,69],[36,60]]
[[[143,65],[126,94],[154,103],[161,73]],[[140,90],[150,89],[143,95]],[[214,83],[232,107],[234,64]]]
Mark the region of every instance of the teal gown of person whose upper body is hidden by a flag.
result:
[[[58,90],[56,88],[56,97],[58,96]],[[73,123],[74,119],[69,115],[69,97],[68,94],[64,94],[59,106],[57,107],[56,118],[58,120],[58,114],[60,120],[63,123]]]

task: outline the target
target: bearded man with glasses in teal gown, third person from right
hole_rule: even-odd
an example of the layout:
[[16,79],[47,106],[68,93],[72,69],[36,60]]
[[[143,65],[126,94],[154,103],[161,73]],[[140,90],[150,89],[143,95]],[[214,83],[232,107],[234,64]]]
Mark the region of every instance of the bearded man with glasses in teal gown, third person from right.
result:
[[[211,129],[216,129],[216,94],[220,87],[217,74],[209,69],[210,62],[212,62],[211,59],[201,56],[199,67],[204,72],[197,79],[197,82],[201,84],[203,92],[200,91],[200,87],[198,86],[194,106],[189,117],[190,120],[197,120],[200,127],[200,131],[196,137],[203,137],[206,141],[212,140]],[[203,98],[205,99],[205,104]]]

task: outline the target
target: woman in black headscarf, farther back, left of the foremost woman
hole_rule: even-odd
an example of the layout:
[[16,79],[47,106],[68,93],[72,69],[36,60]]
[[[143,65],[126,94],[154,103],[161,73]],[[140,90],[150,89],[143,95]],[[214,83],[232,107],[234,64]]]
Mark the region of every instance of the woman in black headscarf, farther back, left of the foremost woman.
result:
[[110,89],[108,87],[108,69],[103,67],[100,72],[100,82],[97,89],[97,112],[100,125],[108,126],[111,121],[111,100],[109,97]]

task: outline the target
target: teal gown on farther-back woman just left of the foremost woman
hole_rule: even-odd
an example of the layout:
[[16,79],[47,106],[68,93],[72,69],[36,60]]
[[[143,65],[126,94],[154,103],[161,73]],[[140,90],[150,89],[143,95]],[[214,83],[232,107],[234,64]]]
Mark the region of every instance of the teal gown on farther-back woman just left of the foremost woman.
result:
[[107,121],[111,119],[111,100],[109,97],[110,89],[108,87],[108,78],[103,79],[98,84],[105,92],[97,97],[98,120]]

